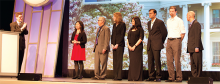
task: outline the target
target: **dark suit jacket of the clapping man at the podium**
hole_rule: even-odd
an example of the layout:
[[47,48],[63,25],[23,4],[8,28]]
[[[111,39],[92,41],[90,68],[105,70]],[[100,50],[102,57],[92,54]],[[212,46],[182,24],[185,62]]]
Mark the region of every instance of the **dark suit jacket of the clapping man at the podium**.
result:
[[28,34],[27,28],[21,31],[21,27],[23,26],[23,22],[21,22],[20,26],[18,26],[17,22],[12,22],[10,23],[11,31],[12,32],[20,32],[19,34],[19,50],[24,50],[25,49],[25,37],[24,35]]

